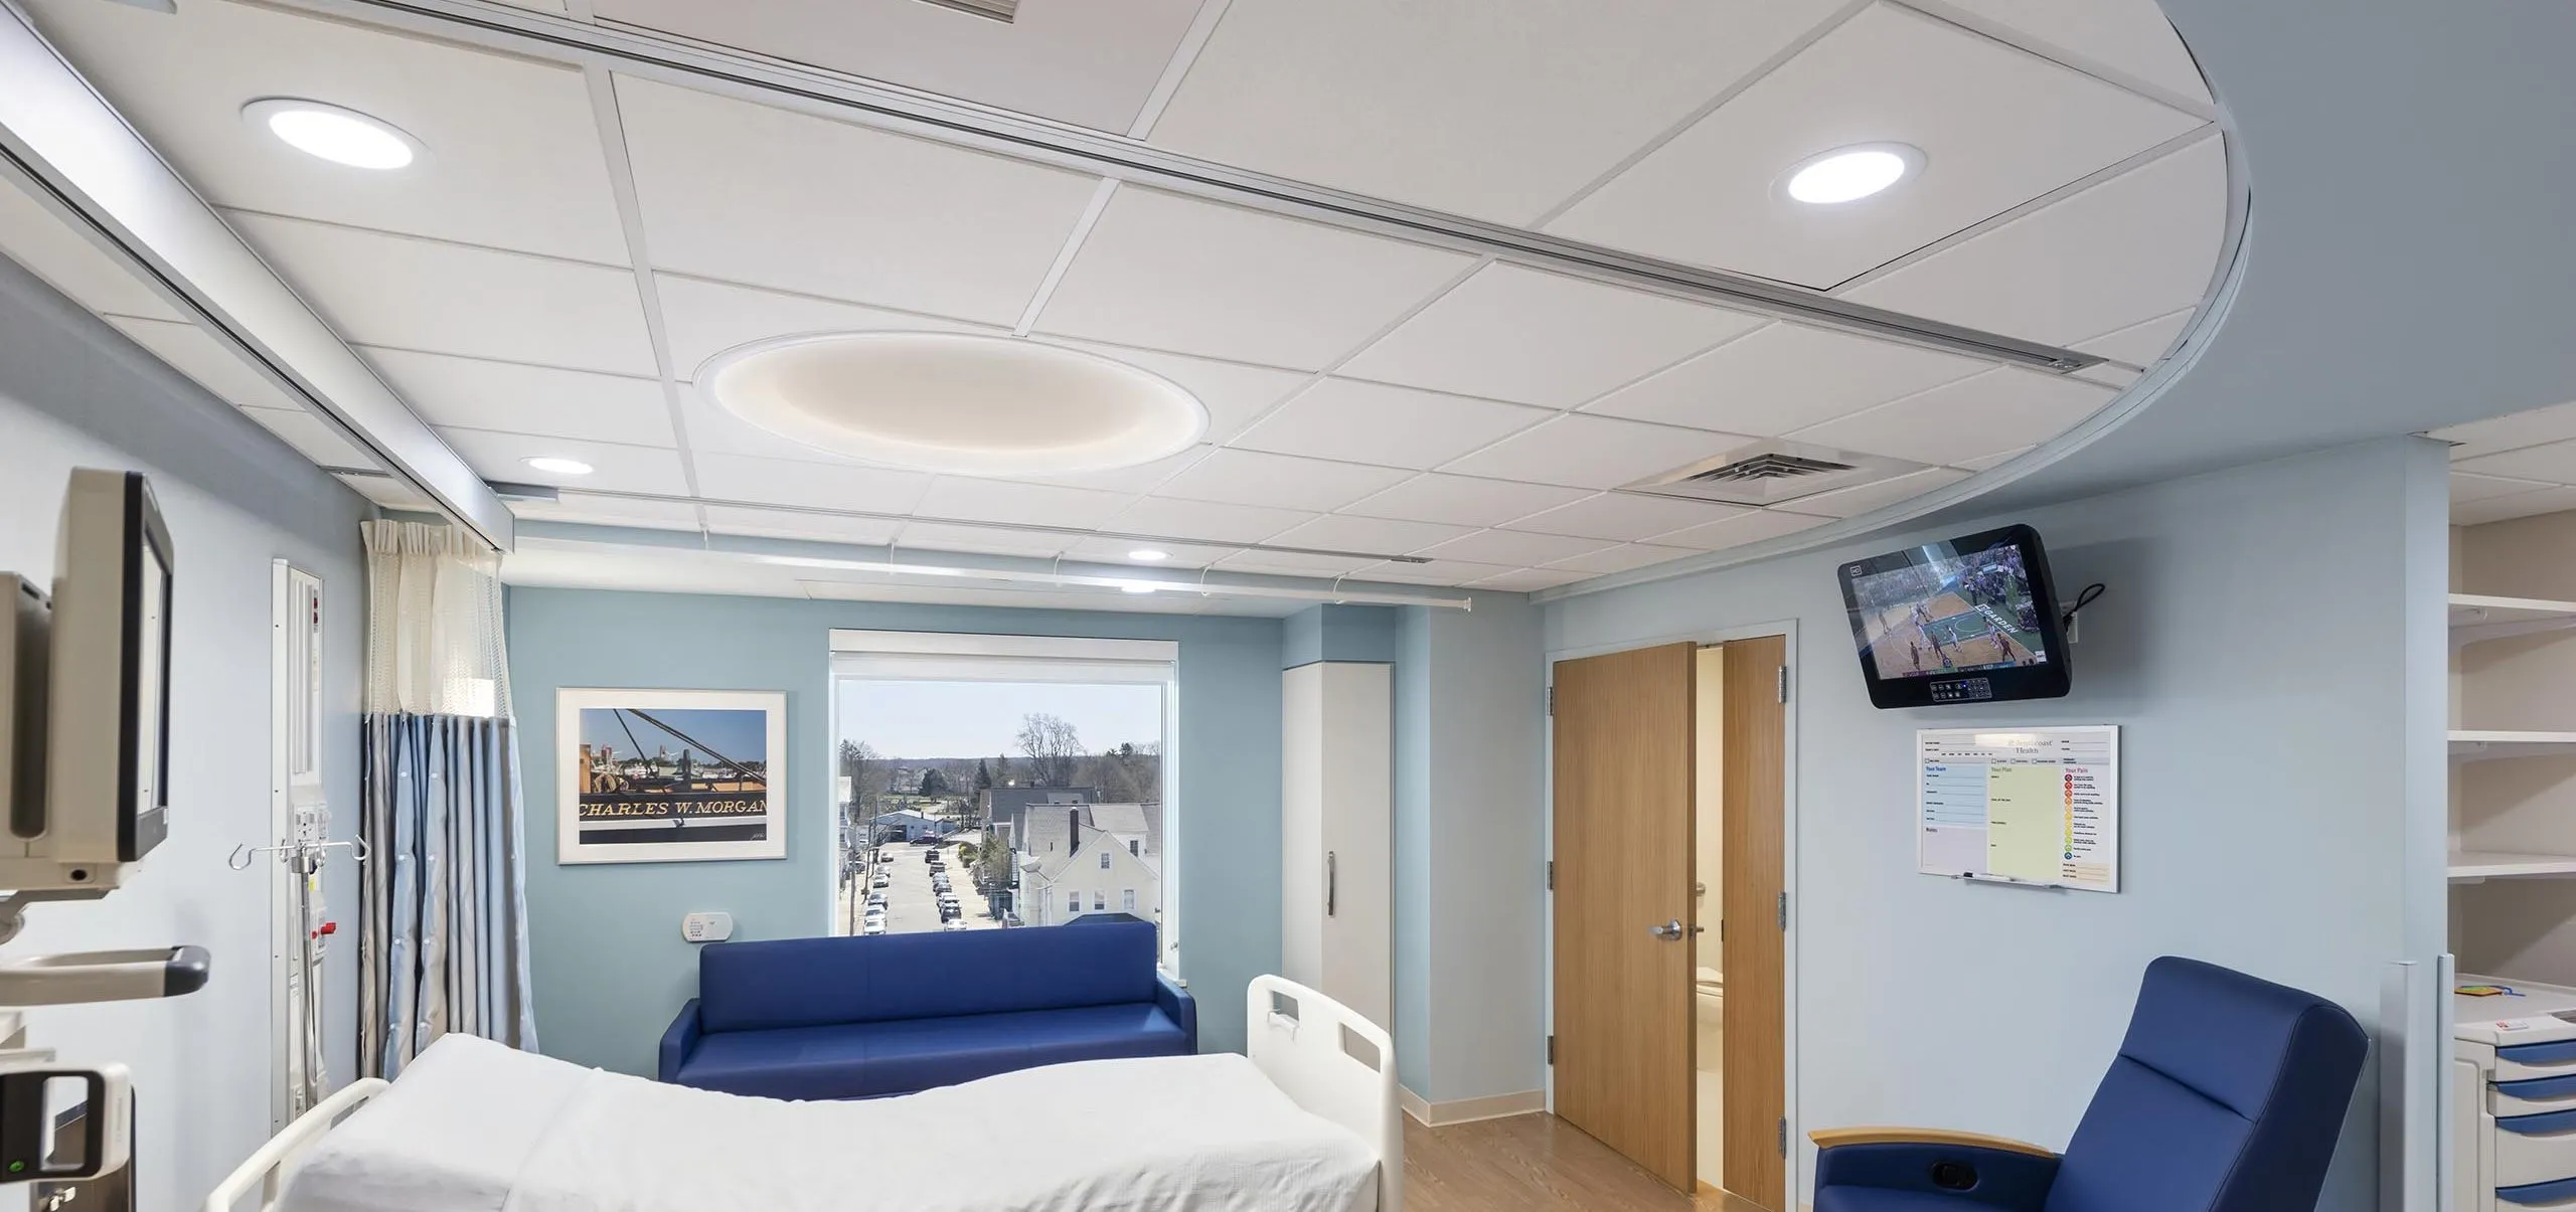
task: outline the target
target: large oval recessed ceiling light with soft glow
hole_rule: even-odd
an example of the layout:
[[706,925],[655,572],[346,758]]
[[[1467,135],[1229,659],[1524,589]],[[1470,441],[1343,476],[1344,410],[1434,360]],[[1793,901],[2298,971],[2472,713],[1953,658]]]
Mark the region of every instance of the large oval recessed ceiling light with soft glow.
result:
[[868,463],[963,476],[1110,471],[1177,455],[1208,409],[1170,378],[1059,345],[840,332],[716,355],[716,407]]

